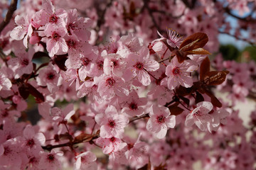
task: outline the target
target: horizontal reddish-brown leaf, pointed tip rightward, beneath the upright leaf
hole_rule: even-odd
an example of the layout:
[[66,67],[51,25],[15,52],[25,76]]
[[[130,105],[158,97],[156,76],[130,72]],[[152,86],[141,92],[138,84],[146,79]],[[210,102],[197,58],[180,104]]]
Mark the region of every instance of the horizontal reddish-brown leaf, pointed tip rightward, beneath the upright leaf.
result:
[[203,84],[208,86],[216,86],[222,84],[225,81],[225,77],[228,74],[228,71],[212,71],[207,72],[203,77]]

